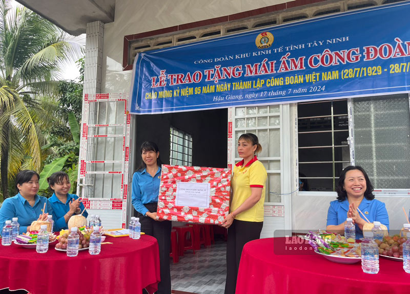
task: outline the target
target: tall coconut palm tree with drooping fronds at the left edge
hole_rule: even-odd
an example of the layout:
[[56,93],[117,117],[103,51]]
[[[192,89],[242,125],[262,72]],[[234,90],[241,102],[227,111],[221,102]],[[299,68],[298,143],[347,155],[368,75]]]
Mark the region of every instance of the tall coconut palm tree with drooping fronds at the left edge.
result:
[[83,53],[73,37],[11,0],[0,0],[1,192],[22,166],[40,171],[45,135],[55,116],[59,74]]

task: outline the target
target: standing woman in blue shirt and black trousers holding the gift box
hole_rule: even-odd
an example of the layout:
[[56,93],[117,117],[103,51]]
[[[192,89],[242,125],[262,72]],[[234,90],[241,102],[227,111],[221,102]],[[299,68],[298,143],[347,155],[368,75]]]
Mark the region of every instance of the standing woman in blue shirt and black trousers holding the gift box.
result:
[[141,148],[142,162],[132,177],[132,205],[141,223],[141,232],[153,236],[159,246],[159,267],[161,281],[158,294],[171,293],[170,246],[172,223],[157,220],[159,183],[161,181],[161,160],[158,146],[146,141]]

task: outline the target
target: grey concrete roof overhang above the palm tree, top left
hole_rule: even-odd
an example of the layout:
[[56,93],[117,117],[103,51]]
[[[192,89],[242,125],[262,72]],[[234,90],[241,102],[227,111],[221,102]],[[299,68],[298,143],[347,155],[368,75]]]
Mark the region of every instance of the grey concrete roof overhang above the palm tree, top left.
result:
[[88,22],[114,21],[115,0],[16,0],[71,35],[86,33]]

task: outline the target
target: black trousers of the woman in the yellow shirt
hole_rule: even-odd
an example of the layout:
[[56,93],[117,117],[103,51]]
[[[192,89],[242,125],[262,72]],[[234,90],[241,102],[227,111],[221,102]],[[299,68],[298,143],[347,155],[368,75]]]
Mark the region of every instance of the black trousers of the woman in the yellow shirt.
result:
[[225,294],[235,294],[236,278],[238,276],[239,261],[245,243],[260,238],[263,221],[243,221],[234,219],[228,229],[227,243],[227,281]]

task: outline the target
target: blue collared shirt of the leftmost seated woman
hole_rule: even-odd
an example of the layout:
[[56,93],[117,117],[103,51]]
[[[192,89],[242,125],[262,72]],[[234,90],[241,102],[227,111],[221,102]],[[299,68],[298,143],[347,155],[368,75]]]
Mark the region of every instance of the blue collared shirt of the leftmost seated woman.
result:
[[44,203],[47,203],[45,213],[53,215],[53,208],[46,197],[35,195],[34,200],[33,207],[20,193],[4,200],[0,208],[0,228],[4,227],[6,220],[18,217],[20,234],[26,233],[27,227],[43,213]]

